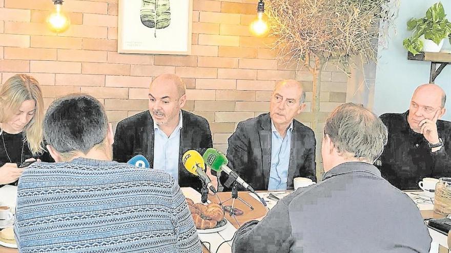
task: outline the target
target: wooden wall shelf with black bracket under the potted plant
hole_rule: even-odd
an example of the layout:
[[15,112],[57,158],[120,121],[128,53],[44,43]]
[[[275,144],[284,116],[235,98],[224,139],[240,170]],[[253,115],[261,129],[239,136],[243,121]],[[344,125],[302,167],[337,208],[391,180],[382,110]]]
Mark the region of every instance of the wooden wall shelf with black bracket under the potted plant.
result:
[[[414,56],[411,52],[407,52],[407,59],[417,61],[430,61],[429,83],[434,83],[437,76],[442,72],[443,68],[451,63],[451,53],[432,53],[423,52]],[[437,64],[440,64],[437,68]]]

